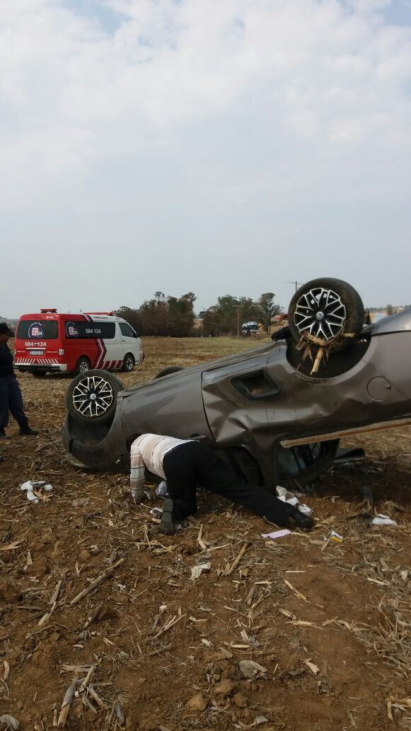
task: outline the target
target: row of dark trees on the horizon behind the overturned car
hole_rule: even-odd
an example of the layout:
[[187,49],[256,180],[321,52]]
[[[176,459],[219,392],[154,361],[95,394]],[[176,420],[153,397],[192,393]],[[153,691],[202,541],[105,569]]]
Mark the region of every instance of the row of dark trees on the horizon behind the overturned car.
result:
[[207,310],[199,312],[201,325],[195,327],[194,303],[196,295],[187,292],[181,297],[170,297],[155,292],[153,299],[145,300],[138,309],[120,307],[115,314],[123,317],[139,335],[188,338],[201,336],[229,336],[241,333],[243,322],[258,322],[269,333],[272,318],[281,307],[274,302],[274,292],[264,292],[258,300],[249,297],[224,295]]

